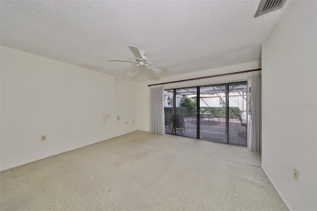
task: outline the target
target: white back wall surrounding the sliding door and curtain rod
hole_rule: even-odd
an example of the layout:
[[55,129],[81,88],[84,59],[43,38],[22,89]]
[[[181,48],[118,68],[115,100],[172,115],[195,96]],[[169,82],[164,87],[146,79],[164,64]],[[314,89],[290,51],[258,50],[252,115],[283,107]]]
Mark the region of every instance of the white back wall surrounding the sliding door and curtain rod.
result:
[[[248,62],[243,64],[237,64],[227,67],[220,67],[216,69],[204,70],[199,72],[192,72],[178,76],[161,78],[160,80],[151,80],[138,83],[138,130],[150,131],[150,87],[149,84],[158,84],[170,81],[178,81],[184,79],[198,78],[210,75],[217,75],[229,72],[238,72],[244,70],[258,69],[261,68],[259,61]],[[247,74],[234,74],[221,77],[206,78],[200,80],[179,82],[164,85],[164,89],[190,87],[209,85],[217,83],[235,82],[235,81],[246,81]]]

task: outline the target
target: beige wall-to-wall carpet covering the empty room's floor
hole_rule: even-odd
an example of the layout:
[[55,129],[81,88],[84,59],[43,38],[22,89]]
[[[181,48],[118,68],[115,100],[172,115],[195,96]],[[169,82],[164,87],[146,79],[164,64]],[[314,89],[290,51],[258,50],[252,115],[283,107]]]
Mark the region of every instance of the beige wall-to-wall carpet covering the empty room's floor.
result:
[[0,172],[0,210],[287,210],[245,147],[136,131]]

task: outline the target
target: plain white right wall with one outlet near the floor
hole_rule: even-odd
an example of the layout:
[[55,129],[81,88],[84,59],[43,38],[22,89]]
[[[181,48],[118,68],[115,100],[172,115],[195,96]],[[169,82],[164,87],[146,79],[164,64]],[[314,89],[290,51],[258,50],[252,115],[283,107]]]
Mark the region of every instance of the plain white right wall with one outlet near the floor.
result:
[[316,58],[317,1],[293,0],[262,46],[262,167],[296,211],[317,210]]

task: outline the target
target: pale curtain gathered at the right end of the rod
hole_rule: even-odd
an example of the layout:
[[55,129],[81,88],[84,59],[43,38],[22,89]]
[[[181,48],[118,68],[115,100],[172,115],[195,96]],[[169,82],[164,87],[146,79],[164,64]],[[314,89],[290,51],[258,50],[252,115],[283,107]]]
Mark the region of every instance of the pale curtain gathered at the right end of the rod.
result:
[[249,150],[261,152],[261,127],[262,127],[262,85],[261,70],[248,73],[248,129],[247,129],[247,148]]

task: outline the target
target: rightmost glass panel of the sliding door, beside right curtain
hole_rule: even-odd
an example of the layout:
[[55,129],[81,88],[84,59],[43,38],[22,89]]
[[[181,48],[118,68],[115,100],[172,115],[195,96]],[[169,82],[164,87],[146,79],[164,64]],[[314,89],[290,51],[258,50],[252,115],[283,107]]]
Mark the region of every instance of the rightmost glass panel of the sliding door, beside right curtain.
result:
[[229,144],[247,146],[247,83],[231,83],[229,91]]

